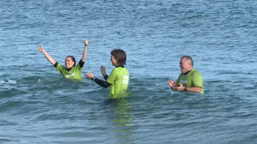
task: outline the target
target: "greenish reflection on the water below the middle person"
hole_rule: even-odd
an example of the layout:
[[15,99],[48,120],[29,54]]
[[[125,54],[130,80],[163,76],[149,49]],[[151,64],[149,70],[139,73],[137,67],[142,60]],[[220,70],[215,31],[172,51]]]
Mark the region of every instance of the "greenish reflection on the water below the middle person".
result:
[[112,126],[116,139],[122,143],[134,143],[133,116],[130,113],[132,105],[126,98],[109,100],[111,112],[113,113]]

